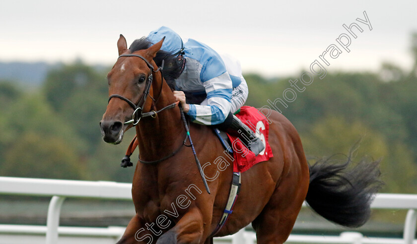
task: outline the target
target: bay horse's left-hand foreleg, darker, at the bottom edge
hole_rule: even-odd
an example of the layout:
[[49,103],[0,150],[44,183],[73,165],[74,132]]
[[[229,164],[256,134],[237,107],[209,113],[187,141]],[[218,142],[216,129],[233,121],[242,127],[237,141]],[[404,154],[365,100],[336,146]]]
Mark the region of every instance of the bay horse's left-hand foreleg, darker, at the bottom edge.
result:
[[143,228],[143,224],[138,215],[133,216],[131,221],[126,227],[125,233],[122,239],[117,244],[138,244],[138,243],[154,243],[154,236],[149,233],[146,228]]

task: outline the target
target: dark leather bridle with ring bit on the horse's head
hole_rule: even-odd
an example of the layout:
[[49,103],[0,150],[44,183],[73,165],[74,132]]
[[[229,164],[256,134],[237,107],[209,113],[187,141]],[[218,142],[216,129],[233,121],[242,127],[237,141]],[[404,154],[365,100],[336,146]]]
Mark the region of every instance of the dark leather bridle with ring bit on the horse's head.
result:
[[[164,107],[164,108],[162,108],[162,109],[160,109],[158,111],[152,110],[150,112],[143,113],[143,106],[144,106],[144,104],[146,102],[147,96],[149,95],[150,86],[152,85],[153,73],[156,73],[158,71],[161,72],[161,79],[162,79],[161,81],[163,81],[162,69],[163,69],[163,66],[164,66],[164,61],[162,61],[162,65],[160,67],[158,67],[157,69],[155,69],[153,67],[153,65],[149,63],[149,61],[147,61],[145,58],[143,58],[140,55],[136,55],[136,54],[124,54],[124,55],[120,55],[118,59],[120,59],[121,57],[138,57],[138,58],[142,59],[143,61],[145,61],[146,62],[146,65],[150,68],[150,73],[149,73],[149,75],[148,75],[148,77],[146,79],[145,89],[144,89],[144,91],[142,93],[142,96],[140,96],[138,103],[135,104],[134,102],[132,102],[128,98],[126,98],[126,97],[124,97],[122,95],[119,95],[119,94],[113,94],[113,95],[111,95],[109,97],[108,103],[110,102],[110,100],[112,98],[117,97],[117,98],[120,98],[123,101],[127,102],[133,108],[134,112],[132,114],[132,120],[127,121],[127,122],[124,122],[124,124],[130,124],[130,123],[132,123],[135,126],[135,125],[137,125],[139,123],[139,121],[140,121],[141,118],[148,117],[148,116],[150,116],[152,118],[155,118],[156,115],[159,112],[161,112],[161,111],[163,111],[165,109],[174,108],[175,106],[178,105],[178,102],[175,102],[175,103],[172,103],[172,104],[170,104],[170,105],[168,105],[168,106],[166,106],[166,107]],[[162,91],[162,85],[163,85],[163,82],[161,82],[161,91]],[[158,96],[158,98],[156,100],[149,95],[149,97],[155,102],[155,104],[156,104],[156,102],[158,101],[158,99],[160,97],[161,91],[159,92],[159,96]]]

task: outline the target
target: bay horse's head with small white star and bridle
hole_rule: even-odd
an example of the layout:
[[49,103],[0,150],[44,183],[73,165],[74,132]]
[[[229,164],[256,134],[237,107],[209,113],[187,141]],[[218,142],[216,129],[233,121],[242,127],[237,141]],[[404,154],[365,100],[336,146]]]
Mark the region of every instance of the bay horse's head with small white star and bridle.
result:
[[[131,52],[127,48],[125,37],[120,35],[117,42],[119,58],[107,74],[109,103],[100,121],[105,142],[119,144],[124,132],[139,122],[142,112],[150,111],[153,97],[152,80],[157,73],[153,58],[161,48],[163,40],[147,49]],[[161,81],[162,79],[159,82]]]

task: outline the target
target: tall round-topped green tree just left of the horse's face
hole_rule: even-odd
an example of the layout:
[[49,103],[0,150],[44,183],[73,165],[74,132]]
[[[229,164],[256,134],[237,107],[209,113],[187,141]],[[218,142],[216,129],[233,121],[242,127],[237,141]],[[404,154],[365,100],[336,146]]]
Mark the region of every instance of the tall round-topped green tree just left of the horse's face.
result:
[[47,75],[44,92],[51,106],[75,129],[93,153],[101,142],[99,121],[106,109],[105,74],[81,61],[64,65]]

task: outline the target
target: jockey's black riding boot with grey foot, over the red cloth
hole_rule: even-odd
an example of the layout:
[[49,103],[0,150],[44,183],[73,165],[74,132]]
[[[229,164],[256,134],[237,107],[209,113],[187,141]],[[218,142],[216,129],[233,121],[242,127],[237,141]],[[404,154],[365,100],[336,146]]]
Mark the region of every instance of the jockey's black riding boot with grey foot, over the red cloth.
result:
[[265,149],[264,143],[255,135],[255,132],[232,113],[229,113],[226,120],[217,127],[239,138],[256,156]]

